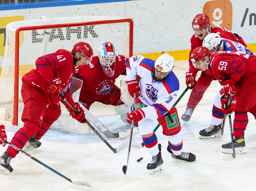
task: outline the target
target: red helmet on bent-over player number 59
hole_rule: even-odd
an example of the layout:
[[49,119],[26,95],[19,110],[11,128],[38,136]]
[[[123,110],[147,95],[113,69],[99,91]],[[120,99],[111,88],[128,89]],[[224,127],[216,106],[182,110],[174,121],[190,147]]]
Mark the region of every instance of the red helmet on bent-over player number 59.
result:
[[208,56],[209,58],[211,56],[209,49],[207,49],[207,47],[205,46],[199,46],[193,50],[193,52],[190,55],[190,59],[194,67],[197,68],[196,63],[199,60],[203,60],[203,62],[205,62],[206,65],[209,64],[209,63],[206,63],[206,60],[205,60],[206,56]]

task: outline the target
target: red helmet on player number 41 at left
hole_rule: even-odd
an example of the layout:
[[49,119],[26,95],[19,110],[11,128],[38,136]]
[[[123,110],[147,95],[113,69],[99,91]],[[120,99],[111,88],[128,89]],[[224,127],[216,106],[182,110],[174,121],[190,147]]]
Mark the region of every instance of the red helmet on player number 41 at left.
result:
[[93,50],[92,47],[86,42],[78,42],[73,47],[73,53],[80,57],[84,62],[89,64],[92,60]]

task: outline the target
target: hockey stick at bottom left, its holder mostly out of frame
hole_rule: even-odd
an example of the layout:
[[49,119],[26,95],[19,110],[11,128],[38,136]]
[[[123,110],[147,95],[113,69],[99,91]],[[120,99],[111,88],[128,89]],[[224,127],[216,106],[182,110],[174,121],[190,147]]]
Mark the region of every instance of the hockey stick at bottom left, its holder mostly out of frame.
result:
[[52,172],[54,172],[55,174],[61,176],[62,178],[65,178],[66,180],[70,181],[71,183],[73,183],[74,185],[78,185],[78,186],[87,186],[87,187],[91,187],[89,182],[86,181],[74,181],[71,180],[69,178],[67,178],[66,176],[60,174],[59,172],[57,172],[56,170],[54,170],[53,168],[47,166],[46,164],[42,163],[41,161],[37,160],[36,158],[34,158],[33,156],[31,156],[30,154],[24,152],[23,150],[21,150],[20,148],[16,147],[15,145],[11,144],[10,142],[6,141],[7,145],[10,145],[12,148],[16,149],[19,152],[22,152],[23,154],[25,154],[26,156],[28,156],[29,158],[31,158],[32,160],[36,161],[37,163],[43,165],[44,167],[48,168],[49,170],[51,170]]

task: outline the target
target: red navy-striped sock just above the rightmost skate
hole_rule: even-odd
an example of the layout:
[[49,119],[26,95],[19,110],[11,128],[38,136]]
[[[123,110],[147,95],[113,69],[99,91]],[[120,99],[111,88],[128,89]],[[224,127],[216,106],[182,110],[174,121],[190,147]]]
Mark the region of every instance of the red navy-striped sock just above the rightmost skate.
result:
[[247,124],[248,124],[247,112],[243,112],[243,113],[235,112],[234,127],[233,127],[234,137],[243,137]]

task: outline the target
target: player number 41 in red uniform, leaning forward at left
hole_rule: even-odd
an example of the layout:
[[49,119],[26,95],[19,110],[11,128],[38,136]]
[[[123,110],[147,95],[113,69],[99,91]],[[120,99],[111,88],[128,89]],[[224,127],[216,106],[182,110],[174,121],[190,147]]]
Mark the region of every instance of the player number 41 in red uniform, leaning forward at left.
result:
[[[91,46],[88,43],[79,42],[74,45],[72,52],[60,49],[36,60],[36,69],[22,77],[21,95],[24,109],[21,120],[24,126],[15,133],[11,144],[20,149],[40,147],[41,142],[38,140],[61,114],[60,93],[73,108],[78,110],[74,112],[66,106],[72,117],[80,122],[84,119],[84,111],[78,103],[74,103],[68,85],[74,72],[73,65],[89,64],[92,55]],[[66,105],[65,102],[63,104]],[[8,147],[0,157],[2,171],[5,173],[13,171],[10,160],[17,154],[17,150]]]

